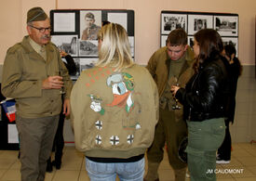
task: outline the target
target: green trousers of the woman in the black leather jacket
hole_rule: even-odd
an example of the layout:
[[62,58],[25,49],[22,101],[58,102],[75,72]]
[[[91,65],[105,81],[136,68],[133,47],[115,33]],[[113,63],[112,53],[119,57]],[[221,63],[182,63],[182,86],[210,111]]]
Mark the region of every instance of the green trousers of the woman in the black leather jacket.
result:
[[214,181],[216,151],[225,136],[223,118],[203,122],[187,122],[188,146],[186,149],[191,181]]

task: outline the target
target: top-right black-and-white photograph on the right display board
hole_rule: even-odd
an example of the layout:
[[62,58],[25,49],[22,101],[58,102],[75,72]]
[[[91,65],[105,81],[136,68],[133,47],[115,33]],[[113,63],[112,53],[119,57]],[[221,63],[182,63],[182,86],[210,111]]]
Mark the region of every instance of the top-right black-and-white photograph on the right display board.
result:
[[214,29],[221,36],[238,36],[238,16],[214,16]]

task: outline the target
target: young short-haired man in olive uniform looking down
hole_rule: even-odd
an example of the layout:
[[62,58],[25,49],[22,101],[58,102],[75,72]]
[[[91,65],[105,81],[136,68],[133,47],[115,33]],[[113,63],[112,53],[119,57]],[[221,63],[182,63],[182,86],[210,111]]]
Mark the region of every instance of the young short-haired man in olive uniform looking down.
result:
[[184,181],[186,163],[179,157],[179,146],[187,136],[187,127],[182,119],[182,105],[176,102],[170,87],[179,84],[184,87],[193,75],[194,54],[187,45],[187,34],[176,29],[168,34],[167,46],[158,49],[149,59],[147,69],[158,87],[160,105],[159,121],[155,126],[152,146],[147,150],[148,173],[146,181],[157,181],[157,170],[163,160],[163,148],[167,145],[168,161],[176,181]]

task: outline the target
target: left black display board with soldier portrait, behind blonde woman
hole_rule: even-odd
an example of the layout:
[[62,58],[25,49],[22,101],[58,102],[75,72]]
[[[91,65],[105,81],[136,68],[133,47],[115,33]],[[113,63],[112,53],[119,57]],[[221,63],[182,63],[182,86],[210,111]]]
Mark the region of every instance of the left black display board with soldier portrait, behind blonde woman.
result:
[[[76,74],[93,67],[98,59],[97,33],[103,21],[121,24],[128,32],[134,59],[134,11],[111,9],[58,9],[50,11],[51,41],[74,58]],[[65,61],[63,59],[63,61]]]

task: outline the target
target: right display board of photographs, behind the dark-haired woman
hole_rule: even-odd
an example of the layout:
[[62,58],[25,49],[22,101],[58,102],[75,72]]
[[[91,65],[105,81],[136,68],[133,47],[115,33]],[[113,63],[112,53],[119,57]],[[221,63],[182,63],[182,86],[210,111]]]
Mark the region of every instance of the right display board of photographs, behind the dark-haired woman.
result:
[[188,34],[188,45],[193,46],[195,32],[209,28],[222,36],[224,45],[233,44],[238,54],[238,15],[231,13],[208,13],[186,11],[161,11],[161,46],[166,45],[168,33],[182,28]]

